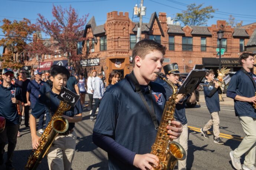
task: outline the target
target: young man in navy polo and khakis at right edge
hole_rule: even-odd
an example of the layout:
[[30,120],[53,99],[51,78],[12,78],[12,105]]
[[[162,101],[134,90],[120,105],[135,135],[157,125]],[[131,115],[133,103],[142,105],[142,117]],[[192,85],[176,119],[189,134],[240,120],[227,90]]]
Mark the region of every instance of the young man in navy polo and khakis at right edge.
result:
[[[254,65],[254,56],[244,52],[239,57],[242,68],[231,78],[227,89],[227,96],[234,99],[234,110],[242,125],[246,136],[240,145],[230,152],[232,164],[235,169],[255,170],[255,147],[256,147],[256,75],[250,69]],[[240,157],[245,154],[244,164],[241,167]]]

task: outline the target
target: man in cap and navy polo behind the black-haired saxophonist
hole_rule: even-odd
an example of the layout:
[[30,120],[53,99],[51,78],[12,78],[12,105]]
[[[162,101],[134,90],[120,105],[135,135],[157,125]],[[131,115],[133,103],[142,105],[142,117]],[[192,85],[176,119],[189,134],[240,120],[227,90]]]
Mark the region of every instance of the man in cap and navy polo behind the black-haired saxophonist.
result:
[[[42,86],[46,83],[41,80],[41,77],[42,77],[41,70],[36,70],[34,72],[34,75],[35,75],[35,79],[29,82],[27,86],[27,94],[26,94],[27,103],[31,107],[31,109],[35,107],[36,100],[39,98],[39,95],[40,95],[40,89],[42,89]],[[38,122],[38,129],[40,134],[43,133],[43,119],[44,119],[44,115],[41,115]]]

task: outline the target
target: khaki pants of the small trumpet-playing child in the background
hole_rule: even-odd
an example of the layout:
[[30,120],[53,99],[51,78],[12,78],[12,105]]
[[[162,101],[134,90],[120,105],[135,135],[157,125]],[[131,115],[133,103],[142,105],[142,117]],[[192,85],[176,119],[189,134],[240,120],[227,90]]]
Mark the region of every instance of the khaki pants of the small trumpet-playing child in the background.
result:
[[220,137],[220,118],[219,118],[219,112],[212,112],[211,113],[211,119],[204,125],[203,131],[209,130],[211,126],[213,126],[213,135],[214,139],[217,139]]

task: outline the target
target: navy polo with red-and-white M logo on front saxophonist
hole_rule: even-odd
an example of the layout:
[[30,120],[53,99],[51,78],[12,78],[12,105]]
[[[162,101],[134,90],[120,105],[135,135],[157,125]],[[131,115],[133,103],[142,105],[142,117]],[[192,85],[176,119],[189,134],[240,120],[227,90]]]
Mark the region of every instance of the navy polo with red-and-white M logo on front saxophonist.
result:
[[[142,93],[150,108],[152,99],[157,121],[160,123],[165,106],[165,90],[160,84],[150,83],[151,95],[148,86],[142,86]],[[151,152],[157,130],[128,75],[104,93],[93,132],[109,136],[119,145],[137,154]],[[135,168],[122,163],[109,153],[108,159],[109,169]]]

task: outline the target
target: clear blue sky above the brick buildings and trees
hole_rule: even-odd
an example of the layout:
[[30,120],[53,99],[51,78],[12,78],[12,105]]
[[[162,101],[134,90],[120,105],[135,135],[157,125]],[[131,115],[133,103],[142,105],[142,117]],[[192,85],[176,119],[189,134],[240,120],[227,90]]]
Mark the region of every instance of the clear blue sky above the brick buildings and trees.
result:
[[[87,1],[87,2],[86,2]],[[9,20],[21,20],[28,18],[32,23],[36,22],[37,14],[42,14],[47,19],[52,19],[52,6],[60,5],[62,7],[69,7],[70,4],[76,9],[79,16],[89,14],[88,20],[92,16],[95,17],[96,24],[101,25],[106,21],[106,13],[111,11],[129,12],[129,17],[132,18],[133,7],[139,4],[141,0],[1,0],[0,1],[0,20],[7,18]],[[49,3],[47,3],[49,2]],[[58,3],[57,3],[58,2]],[[67,3],[63,3],[67,2]],[[174,17],[176,13],[181,13],[186,10],[186,4],[201,4],[203,7],[213,6],[217,9],[214,13],[214,18],[211,18],[207,25],[216,24],[217,20],[228,20],[229,13],[233,13],[236,20],[243,20],[243,25],[256,22],[255,0],[144,0],[146,9],[146,16],[143,22],[148,23],[152,13],[166,12],[167,17]],[[138,18],[133,18],[138,21]],[[0,25],[2,23],[0,22]],[[3,38],[0,30],[0,38]],[[3,48],[0,47],[0,54]]]

